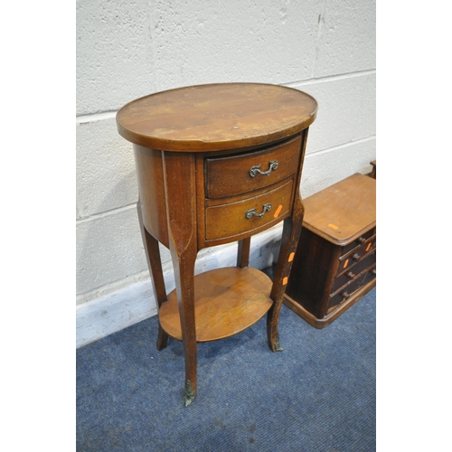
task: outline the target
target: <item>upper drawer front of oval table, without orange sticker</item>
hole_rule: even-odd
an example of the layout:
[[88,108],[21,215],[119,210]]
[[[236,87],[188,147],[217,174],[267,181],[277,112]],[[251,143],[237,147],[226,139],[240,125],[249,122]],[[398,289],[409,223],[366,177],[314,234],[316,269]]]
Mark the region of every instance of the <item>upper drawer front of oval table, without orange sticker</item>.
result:
[[222,198],[276,184],[297,171],[301,137],[249,154],[206,158],[206,197]]

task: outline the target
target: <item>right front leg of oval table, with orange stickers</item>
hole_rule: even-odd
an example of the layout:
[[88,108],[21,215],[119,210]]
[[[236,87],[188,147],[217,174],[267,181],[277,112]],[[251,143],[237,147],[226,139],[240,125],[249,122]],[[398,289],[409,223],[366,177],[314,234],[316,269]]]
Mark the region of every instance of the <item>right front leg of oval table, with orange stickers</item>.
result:
[[294,202],[294,212],[292,217],[284,220],[281,247],[279,250],[278,264],[275,270],[275,278],[270,292],[273,305],[267,315],[268,346],[272,352],[281,352],[283,348],[279,344],[278,320],[283,295],[286,290],[290,269],[297,250],[297,242],[301,232],[303,222],[304,207],[299,197],[296,195]]

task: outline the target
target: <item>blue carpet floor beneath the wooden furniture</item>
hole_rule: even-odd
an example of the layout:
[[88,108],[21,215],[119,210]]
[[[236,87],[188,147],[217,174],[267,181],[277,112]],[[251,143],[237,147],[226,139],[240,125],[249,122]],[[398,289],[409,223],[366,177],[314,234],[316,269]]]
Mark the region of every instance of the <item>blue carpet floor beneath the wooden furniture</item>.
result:
[[323,330],[282,307],[198,344],[198,396],[184,407],[182,343],[155,349],[151,317],[77,351],[77,450],[374,451],[376,289]]

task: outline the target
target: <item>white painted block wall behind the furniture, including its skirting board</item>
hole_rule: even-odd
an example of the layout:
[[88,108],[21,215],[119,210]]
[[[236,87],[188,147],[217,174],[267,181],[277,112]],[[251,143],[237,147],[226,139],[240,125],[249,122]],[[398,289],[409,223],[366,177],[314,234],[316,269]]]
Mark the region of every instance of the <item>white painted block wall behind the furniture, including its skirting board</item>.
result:
[[[118,108],[163,89],[230,81],[281,84],[317,99],[303,197],[371,170],[374,0],[77,1],[78,346],[156,313]],[[251,265],[271,263],[279,233],[252,240]],[[202,250],[196,271],[233,265],[235,250]],[[162,256],[170,290],[167,250]]]

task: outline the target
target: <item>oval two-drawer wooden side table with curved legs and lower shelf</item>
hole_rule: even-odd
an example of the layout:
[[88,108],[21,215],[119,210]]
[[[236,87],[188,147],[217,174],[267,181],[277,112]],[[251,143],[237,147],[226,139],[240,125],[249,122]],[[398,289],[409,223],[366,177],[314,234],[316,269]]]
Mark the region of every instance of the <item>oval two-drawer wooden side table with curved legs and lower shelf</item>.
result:
[[[297,89],[220,83],[170,89],[118,111],[133,143],[138,217],[159,306],[157,349],[184,343],[185,405],[196,396],[197,342],[238,334],[267,317],[282,350],[278,315],[303,221],[299,195],[315,99]],[[284,221],[273,282],[250,268],[252,235]],[[199,250],[238,241],[237,267],[194,276]],[[158,243],[171,252],[166,295]]]

